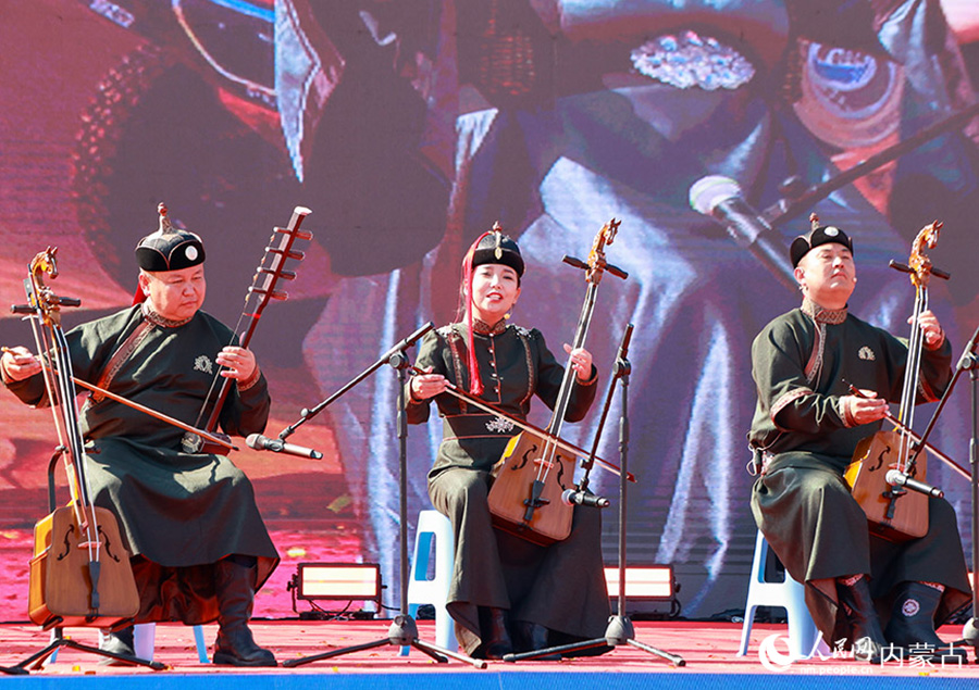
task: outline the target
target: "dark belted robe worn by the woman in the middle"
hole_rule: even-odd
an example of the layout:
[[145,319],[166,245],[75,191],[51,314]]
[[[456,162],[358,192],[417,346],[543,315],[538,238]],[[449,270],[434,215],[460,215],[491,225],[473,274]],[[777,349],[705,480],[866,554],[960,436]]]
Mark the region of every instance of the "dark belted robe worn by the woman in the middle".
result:
[[[553,407],[565,371],[544,337],[536,329],[518,326],[497,330],[474,336],[482,399],[518,419],[526,418],[534,394]],[[434,373],[468,389],[467,333],[461,324],[453,324],[427,334],[418,366],[432,366]],[[596,378],[597,374],[585,385],[572,386],[566,419],[579,421],[587,412],[595,398]],[[455,572],[447,609],[461,647],[470,654],[480,647],[480,606],[505,609],[511,620],[549,628],[553,644],[604,637],[609,606],[599,511],[575,506],[571,535],[548,547],[496,529],[486,501],[493,482],[491,469],[520,429],[449,393],[438,396],[435,402],[443,417],[443,441],[429,473],[429,495],[455,530]],[[427,403],[409,400],[408,422],[425,422]]]

